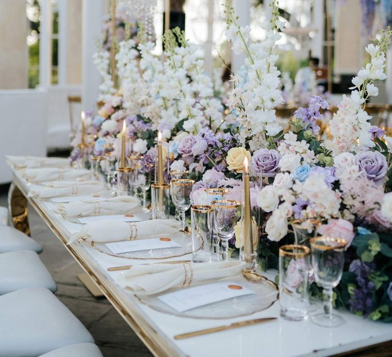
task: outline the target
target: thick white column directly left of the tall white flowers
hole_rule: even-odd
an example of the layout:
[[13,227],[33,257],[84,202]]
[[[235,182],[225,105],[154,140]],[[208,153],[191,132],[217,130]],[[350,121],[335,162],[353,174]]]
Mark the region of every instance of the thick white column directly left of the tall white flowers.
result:
[[104,18],[103,0],[83,0],[82,9],[82,105],[94,109],[99,95],[101,76],[92,63],[96,51],[95,40],[102,41]]

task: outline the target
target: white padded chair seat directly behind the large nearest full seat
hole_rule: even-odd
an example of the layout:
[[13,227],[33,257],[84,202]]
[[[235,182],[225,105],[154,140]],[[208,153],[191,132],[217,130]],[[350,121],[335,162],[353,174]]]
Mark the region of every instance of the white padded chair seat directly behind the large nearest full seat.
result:
[[0,295],[37,287],[52,292],[57,290],[55,281],[35,251],[18,250],[0,254]]

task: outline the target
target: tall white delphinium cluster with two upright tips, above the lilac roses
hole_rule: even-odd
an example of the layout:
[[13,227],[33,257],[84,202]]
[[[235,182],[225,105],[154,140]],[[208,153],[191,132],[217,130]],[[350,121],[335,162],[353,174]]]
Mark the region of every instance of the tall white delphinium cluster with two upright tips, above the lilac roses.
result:
[[235,73],[232,81],[234,89],[229,95],[228,105],[238,113],[241,124],[242,144],[249,142],[251,150],[265,146],[267,136],[274,137],[282,127],[277,123],[274,107],[282,103],[279,91],[279,75],[275,62],[277,55],[272,54],[275,43],[281,38],[279,31],[283,22],[279,20],[276,2],[272,4],[272,20],[266,30],[266,38],[260,43],[250,41],[250,27],[240,27],[230,2],[226,2],[226,36],[233,43],[236,54],[245,54],[244,66]]

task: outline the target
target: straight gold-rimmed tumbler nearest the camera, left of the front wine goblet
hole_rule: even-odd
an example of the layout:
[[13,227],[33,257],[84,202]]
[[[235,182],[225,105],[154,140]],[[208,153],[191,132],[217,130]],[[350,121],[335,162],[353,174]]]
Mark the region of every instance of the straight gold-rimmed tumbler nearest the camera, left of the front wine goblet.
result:
[[301,321],[308,317],[310,249],[288,244],[279,248],[280,316]]

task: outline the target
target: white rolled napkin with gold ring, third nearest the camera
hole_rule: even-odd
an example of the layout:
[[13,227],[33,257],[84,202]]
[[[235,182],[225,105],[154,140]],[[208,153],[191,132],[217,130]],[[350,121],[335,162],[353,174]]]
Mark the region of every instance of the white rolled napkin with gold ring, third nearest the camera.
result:
[[139,206],[133,196],[117,196],[101,199],[82,199],[69,203],[58,203],[55,213],[64,217],[84,217],[93,215],[125,214]]

